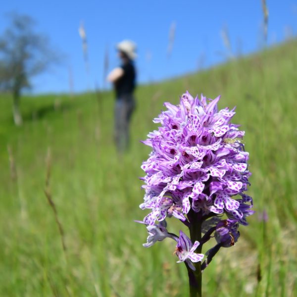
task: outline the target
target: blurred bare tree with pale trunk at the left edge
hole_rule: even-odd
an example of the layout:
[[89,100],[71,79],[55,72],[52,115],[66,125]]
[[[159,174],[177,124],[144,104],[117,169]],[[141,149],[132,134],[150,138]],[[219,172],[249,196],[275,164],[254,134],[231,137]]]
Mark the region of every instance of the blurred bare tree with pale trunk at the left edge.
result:
[[0,90],[12,94],[13,119],[19,126],[22,91],[31,87],[32,77],[47,70],[59,58],[49,48],[47,37],[35,32],[35,21],[30,16],[12,13],[9,18],[9,26],[0,36]]

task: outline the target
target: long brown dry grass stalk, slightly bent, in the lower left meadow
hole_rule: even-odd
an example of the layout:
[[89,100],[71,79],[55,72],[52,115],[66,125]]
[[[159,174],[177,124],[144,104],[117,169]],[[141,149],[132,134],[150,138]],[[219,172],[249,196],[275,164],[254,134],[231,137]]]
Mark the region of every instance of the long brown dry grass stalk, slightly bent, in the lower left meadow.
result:
[[52,200],[51,191],[50,191],[50,173],[51,173],[51,151],[50,151],[50,148],[48,148],[46,164],[47,164],[47,175],[46,175],[45,194],[46,194],[46,197],[48,199],[49,206],[51,207],[51,209],[53,211],[54,219],[55,219],[55,222],[56,222],[56,224],[58,226],[58,229],[59,229],[59,234],[60,234],[60,238],[61,238],[63,251],[66,252],[64,230],[63,230],[62,224],[61,224],[61,222],[59,220],[57,209],[56,209],[56,206],[55,206],[55,204],[54,204],[54,202]]

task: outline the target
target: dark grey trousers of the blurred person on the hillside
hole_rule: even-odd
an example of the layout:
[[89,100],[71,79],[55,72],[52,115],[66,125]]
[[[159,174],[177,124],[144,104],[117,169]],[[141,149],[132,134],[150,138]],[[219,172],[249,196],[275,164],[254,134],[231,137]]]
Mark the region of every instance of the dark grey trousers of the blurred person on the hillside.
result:
[[129,124],[135,109],[133,95],[117,98],[114,110],[114,136],[118,151],[122,152],[129,146]]

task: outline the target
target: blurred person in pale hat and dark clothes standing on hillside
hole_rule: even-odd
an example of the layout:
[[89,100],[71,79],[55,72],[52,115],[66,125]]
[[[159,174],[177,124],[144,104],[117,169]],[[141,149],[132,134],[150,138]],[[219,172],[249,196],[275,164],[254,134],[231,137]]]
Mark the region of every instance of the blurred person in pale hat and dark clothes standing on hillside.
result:
[[118,151],[122,152],[129,146],[129,123],[135,109],[133,96],[136,87],[136,44],[124,40],[117,44],[121,65],[114,68],[107,76],[107,80],[114,86],[116,102],[114,110],[114,137]]

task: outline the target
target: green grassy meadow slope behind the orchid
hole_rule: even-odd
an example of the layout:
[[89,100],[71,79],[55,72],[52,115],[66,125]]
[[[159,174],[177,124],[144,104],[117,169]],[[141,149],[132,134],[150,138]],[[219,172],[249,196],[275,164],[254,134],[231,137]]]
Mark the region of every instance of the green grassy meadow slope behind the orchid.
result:
[[[113,146],[113,94],[36,96],[22,100],[16,128],[9,96],[0,98],[0,296],[187,296],[187,272],[174,243],[142,247],[134,223],[144,193],[138,179],[149,148],[139,140],[156,128],[164,101],[187,89],[220,107],[237,105],[246,130],[257,213],[203,273],[208,297],[297,296],[297,42],[210,70],[137,90],[130,151]],[[11,148],[17,178],[7,153]],[[44,194],[51,150],[50,190],[65,232],[66,251]],[[264,223],[258,216],[267,211]],[[177,232],[179,224],[168,221]],[[261,280],[257,280],[257,275]]]

